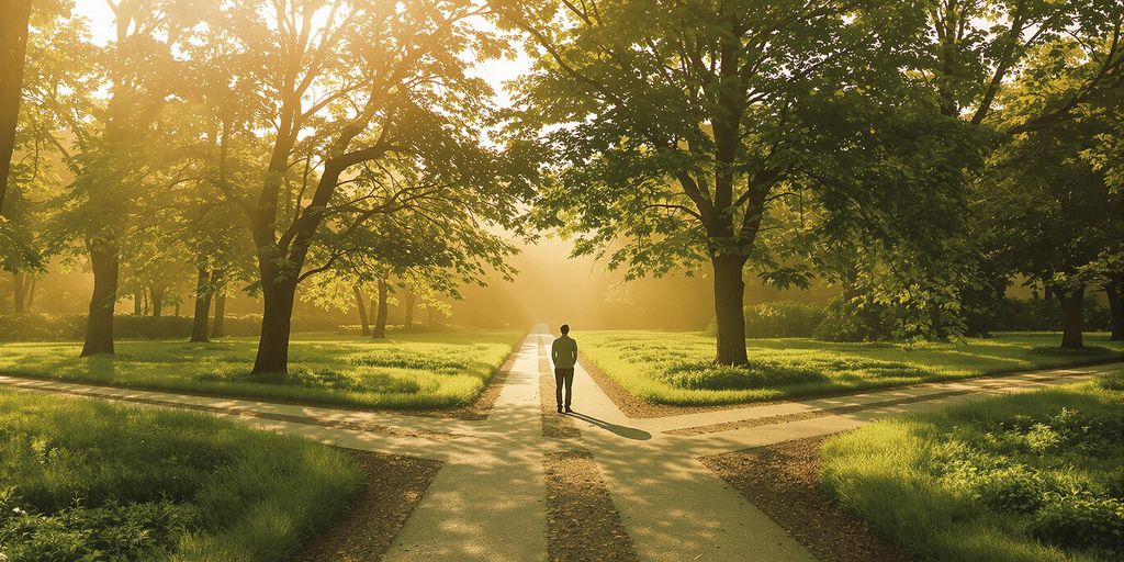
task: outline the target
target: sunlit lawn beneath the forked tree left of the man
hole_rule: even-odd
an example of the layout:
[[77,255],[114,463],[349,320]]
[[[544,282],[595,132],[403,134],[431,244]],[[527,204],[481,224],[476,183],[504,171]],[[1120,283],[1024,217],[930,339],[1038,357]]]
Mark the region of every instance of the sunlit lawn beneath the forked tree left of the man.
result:
[[80,359],[80,343],[0,344],[0,374],[372,408],[471,402],[517,332],[391,335],[297,334],[285,375],[251,377],[256,338],[209,344],[121,341],[116,356]]

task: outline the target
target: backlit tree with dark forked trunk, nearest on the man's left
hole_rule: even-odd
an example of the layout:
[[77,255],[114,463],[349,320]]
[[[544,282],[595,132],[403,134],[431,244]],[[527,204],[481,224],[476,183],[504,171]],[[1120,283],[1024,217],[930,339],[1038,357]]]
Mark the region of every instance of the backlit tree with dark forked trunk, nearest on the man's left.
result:
[[[502,167],[474,136],[490,91],[468,75],[463,55],[490,56],[501,45],[472,25],[479,4],[336,0],[235,9],[238,38],[262,54],[262,67],[251,74],[263,76],[260,99],[273,127],[261,190],[248,209],[264,298],[253,373],[284,372],[297,285],[334,264],[336,254],[326,252],[325,262],[306,268],[310,254],[320,253],[324,228],[346,241],[372,218],[423,197],[455,199],[471,220],[509,224],[525,185],[502,170],[484,178],[487,166]],[[263,20],[263,11],[275,25]],[[452,182],[407,199],[342,197],[354,170],[392,155],[422,157]],[[293,178],[301,161],[305,173]]]

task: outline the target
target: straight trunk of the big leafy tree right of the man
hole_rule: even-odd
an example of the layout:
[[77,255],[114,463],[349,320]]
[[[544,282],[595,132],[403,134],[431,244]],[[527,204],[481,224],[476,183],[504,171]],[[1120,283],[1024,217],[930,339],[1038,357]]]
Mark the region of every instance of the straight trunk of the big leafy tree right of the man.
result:
[[745,261],[737,256],[718,256],[714,265],[714,309],[718,321],[718,350],[715,363],[722,365],[744,365],[749,362],[745,353],[745,316],[742,311],[745,282],[742,269]]

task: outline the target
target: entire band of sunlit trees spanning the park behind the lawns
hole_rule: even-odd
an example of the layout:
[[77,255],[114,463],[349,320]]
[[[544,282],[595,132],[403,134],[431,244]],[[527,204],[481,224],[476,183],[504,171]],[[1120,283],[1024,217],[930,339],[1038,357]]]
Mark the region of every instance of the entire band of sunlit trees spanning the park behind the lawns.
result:
[[[1063,347],[1105,291],[1121,337],[1118,0],[106,1],[105,45],[70,2],[0,6],[3,265],[92,271],[83,355],[187,283],[193,341],[261,296],[254,373],[283,372],[298,287],[379,336],[533,228],[705,269],[723,364],[746,272],[933,339],[1023,279]],[[474,62],[520,48],[498,107]]]

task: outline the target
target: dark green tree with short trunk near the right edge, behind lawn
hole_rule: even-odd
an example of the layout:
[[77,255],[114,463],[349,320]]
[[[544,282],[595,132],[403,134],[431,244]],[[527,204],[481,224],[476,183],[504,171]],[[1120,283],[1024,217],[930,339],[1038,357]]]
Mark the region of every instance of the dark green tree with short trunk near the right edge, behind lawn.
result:
[[[1086,289],[1112,282],[1124,237],[1121,192],[1105,169],[1082,156],[1097,138],[1117,134],[1112,125],[1124,89],[1085,93],[1114,65],[1108,76],[1124,84],[1124,52],[1117,49],[1124,19],[1115,25],[1108,39],[1059,38],[1033,53],[1017,84],[1001,97],[1003,117],[1019,133],[995,154],[985,194],[996,217],[989,227],[1006,241],[1003,252],[1018,272],[1058,297],[1061,346],[1068,348],[1084,345]],[[1040,108],[1068,109],[1044,119]]]

